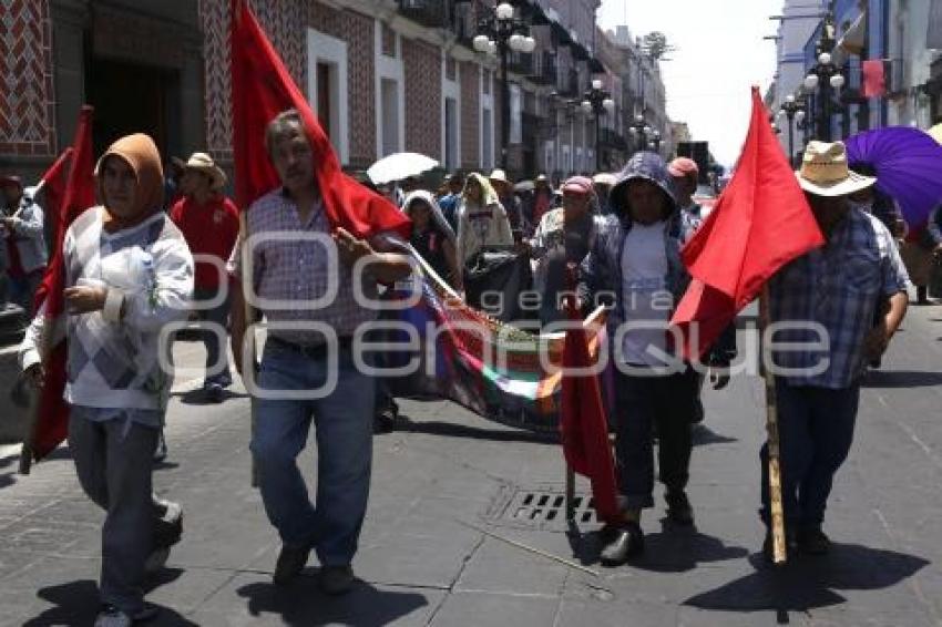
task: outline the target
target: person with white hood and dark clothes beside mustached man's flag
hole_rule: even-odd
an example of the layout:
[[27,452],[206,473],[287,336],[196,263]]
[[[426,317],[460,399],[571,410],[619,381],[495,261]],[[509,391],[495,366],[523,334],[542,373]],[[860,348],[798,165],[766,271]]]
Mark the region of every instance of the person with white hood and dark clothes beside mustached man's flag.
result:
[[412,220],[409,238],[412,247],[440,278],[454,289],[462,289],[461,268],[455,255],[457,238],[434,196],[423,189],[412,192],[406,196],[402,210]]

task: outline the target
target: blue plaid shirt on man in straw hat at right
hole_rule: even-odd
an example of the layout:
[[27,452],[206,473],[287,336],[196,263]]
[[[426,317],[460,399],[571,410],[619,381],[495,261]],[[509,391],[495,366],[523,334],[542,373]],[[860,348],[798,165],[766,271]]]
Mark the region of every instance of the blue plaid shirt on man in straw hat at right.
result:
[[[880,220],[851,209],[823,248],[786,266],[770,282],[772,322],[817,322],[828,332],[826,351],[775,351],[779,368],[813,369],[821,373],[786,376],[791,386],[842,389],[863,373],[863,339],[873,328],[883,298],[909,285],[892,235]],[[775,335],[776,343],[820,342],[820,333],[792,329]],[[820,368],[818,368],[820,370]]]

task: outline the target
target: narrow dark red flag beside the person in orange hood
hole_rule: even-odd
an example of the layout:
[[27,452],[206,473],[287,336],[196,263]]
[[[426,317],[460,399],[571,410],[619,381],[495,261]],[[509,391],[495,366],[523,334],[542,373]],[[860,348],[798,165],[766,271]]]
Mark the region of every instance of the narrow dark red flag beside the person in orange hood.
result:
[[47,341],[40,347],[45,369],[45,384],[37,401],[39,408],[35,423],[30,433],[30,445],[35,460],[52,452],[65,439],[69,425],[69,405],[62,398],[65,390],[65,341],[54,341],[57,326],[62,325],[65,300],[65,264],[62,258],[62,240],[72,222],[95,204],[94,161],[92,155],[91,106],[83,106],[72,142],[72,169],[59,214],[55,232],[55,251],[45,269],[45,276],[35,295],[35,310],[44,305],[44,331]]

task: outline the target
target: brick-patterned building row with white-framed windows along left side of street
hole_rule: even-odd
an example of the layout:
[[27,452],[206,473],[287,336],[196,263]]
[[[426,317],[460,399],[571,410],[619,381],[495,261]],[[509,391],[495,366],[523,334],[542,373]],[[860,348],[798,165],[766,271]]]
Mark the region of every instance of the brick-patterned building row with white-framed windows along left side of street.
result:
[[[493,0],[249,0],[344,165],[399,151],[447,169],[501,161],[498,60],[471,47]],[[571,106],[603,73],[600,0],[516,0],[539,45],[511,59],[510,169],[594,167],[594,122]],[[95,150],[133,132],[162,153],[232,161],[229,0],[2,0],[0,171],[33,181],[95,106]]]

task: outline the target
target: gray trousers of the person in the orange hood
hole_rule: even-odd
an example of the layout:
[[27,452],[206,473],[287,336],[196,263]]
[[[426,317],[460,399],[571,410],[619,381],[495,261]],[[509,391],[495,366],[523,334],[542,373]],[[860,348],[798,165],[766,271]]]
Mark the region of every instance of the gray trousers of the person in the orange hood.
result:
[[[126,430],[126,433],[125,433]],[[107,514],[102,526],[102,603],[131,616],[144,606],[144,562],[154,548],[152,459],[158,431],[123,419],[69,421],[79,483]]]

